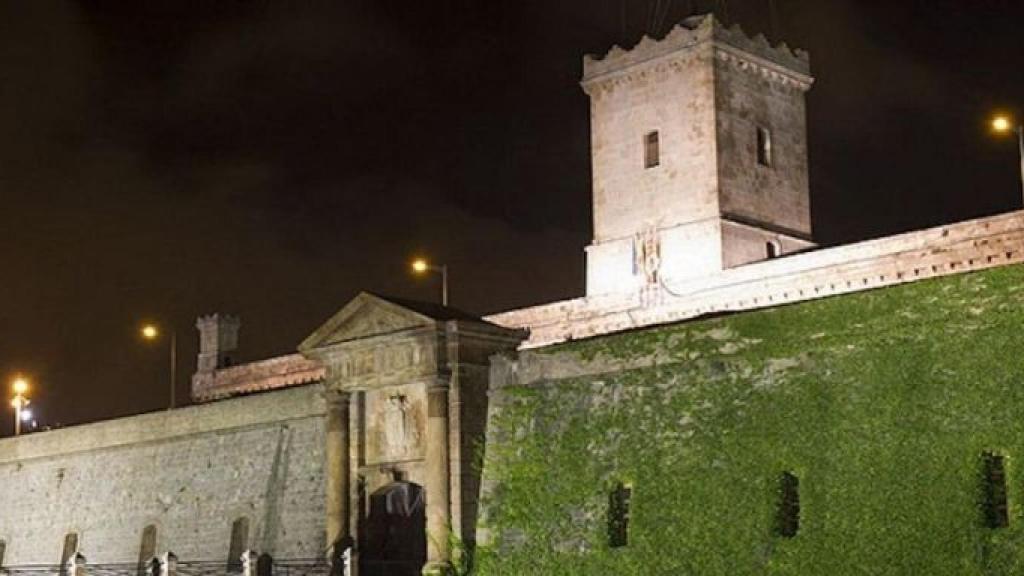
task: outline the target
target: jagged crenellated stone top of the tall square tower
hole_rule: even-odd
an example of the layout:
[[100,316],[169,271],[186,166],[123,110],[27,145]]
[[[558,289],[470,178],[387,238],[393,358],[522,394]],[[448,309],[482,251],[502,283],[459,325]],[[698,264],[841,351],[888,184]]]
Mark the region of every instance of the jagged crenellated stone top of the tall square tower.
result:
[[686,18],[660,40],[644,36],[628,50],[616,45],[603,55],[584,56],[583,84],[586,86],[638,64],[659,59],[706,42],[753,55],[776,69],[776,72],[795,76],[795,79],[810,85],[810,56],[806,51],[791,49],[784,42],[772,46],[763,34],[751,37],[738,25],[726,28],[713,14]]

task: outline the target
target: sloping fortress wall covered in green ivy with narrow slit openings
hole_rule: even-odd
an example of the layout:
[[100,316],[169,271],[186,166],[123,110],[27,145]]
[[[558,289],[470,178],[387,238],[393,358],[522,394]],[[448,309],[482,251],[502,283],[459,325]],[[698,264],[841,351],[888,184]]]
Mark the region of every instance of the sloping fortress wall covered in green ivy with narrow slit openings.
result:
[[[480,575],[1024,574],[1024,268],[498,362]],[[985,452],[1008,528],[987,528]],[[779,479],[800,527],[776,535]],[[609,492],[632,486],[629,543]]]

